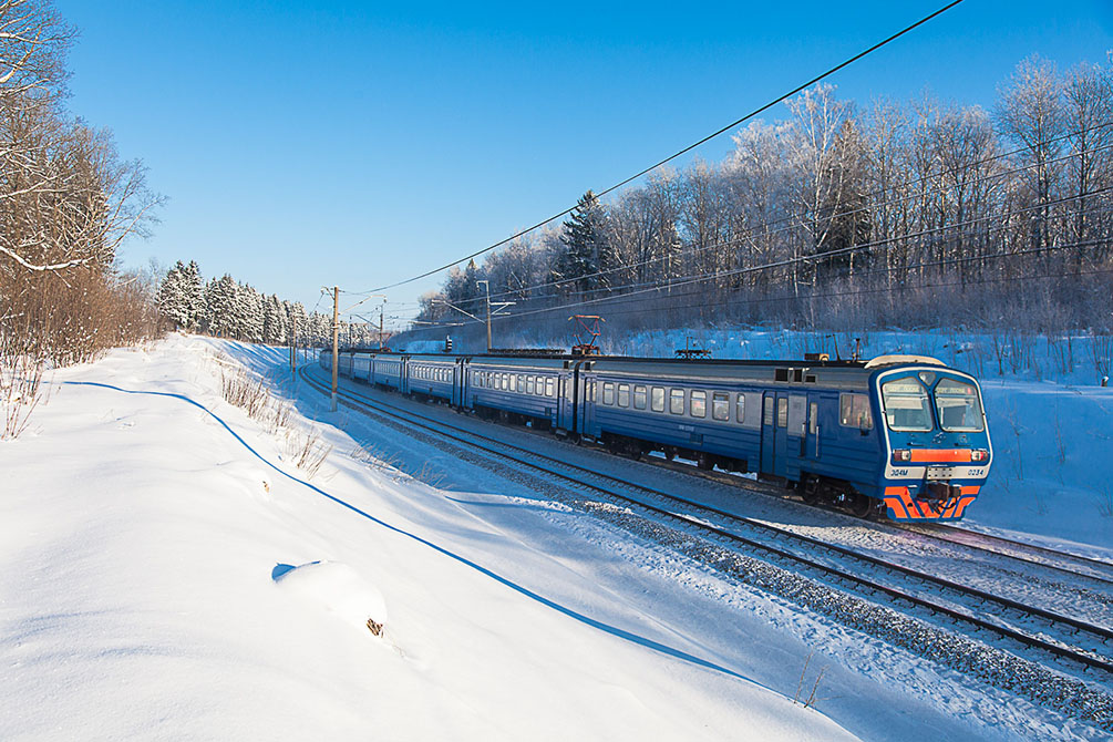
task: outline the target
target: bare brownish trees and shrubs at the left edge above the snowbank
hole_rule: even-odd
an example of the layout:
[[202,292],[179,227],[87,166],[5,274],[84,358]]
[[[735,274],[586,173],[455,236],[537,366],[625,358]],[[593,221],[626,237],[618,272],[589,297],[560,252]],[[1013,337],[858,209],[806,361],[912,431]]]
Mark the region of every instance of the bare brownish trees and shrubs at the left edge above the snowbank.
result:
[[[156,332],[151,283],[116,268],[159,198],[111,135],[69,113],[73,30],[48,0],[0,0],[0,382]],[[0,389],[3,390],[3,389]]]

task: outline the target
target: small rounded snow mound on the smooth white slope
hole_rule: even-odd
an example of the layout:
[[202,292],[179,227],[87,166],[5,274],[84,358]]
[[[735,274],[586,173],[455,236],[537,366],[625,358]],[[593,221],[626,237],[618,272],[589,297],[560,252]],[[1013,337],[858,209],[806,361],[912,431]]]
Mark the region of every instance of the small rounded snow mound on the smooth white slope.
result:
[[342,562],[311,562],[301,566],[275,567],[274,581],[279,587],[318,603],[345,623],[366,629],[368,620],[381,626],[386,623],[383,594]]

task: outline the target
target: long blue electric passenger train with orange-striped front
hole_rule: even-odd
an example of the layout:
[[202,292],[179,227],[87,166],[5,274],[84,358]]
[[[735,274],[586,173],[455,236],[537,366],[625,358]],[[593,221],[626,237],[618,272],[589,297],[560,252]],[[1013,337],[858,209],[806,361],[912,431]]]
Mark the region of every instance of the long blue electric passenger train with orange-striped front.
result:
[[[331,369],[332,353],[321,365]],[[922,356],[702,360],[346,352],[337,373],[642,456],[755,472],[860,517],[957,521],[993,458],[977,380]]]

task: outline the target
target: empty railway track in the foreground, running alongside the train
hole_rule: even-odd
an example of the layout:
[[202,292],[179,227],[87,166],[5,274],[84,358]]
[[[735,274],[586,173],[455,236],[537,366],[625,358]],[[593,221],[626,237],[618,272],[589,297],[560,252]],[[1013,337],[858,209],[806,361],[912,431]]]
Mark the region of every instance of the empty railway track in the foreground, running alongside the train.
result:
[[[303,378],[327,394],[325,384],[314,378],[312,373],[307,374],[303,369]],[[743,546],[749,552],[757,551],[767,558],[787,561],[795,567],[804,567],[870,597],[884,595],[889,601],[905,603],[932,615],[945,616],[978,631],[989,632],[1026,651],[1034,650],[1051,655],[1066,669],[1093,671],[1091,676],[1101,675],[1106,683],[1113,680],[1113,660],[1109,656],[1109,649],[1113,645],[1113,631],[1106,627],[709,507],[674,493],[632,485],[618,477],[523,446],[431,421],[352,389],[342,388],[338,396],[346,406],[392,416],[406,425],[420,427],[489,455],[510,459],[579,488],[587,487],[597,496],[601,494],[608,498],[618,498],[621,504],[633,505],[658,518],[680,523],[686,528],[696,528],[717,540]],[[679,511],[677,506],[689,512]],[[850,567],[848,562],[855,566]],[[880,580],[880,575],[886,578]]]

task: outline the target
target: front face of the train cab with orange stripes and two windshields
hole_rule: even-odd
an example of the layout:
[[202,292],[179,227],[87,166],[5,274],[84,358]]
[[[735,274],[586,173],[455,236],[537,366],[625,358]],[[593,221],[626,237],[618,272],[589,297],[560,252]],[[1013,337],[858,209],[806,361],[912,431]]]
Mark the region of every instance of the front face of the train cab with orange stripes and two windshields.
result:
[[957,521],[993,458],[977,382],[947,367],[875,377],[888,459],[884,499],[893,521]]

